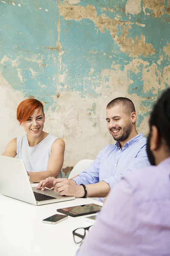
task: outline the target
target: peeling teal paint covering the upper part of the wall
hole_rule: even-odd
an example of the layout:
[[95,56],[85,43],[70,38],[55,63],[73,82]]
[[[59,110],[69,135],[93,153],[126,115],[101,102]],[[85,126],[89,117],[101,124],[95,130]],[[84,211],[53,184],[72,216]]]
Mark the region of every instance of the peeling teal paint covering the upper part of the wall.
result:
[[[136,36],[140,39],[141,35],[144,35],[145,43],[152,44],[156,51],[153,55],[130,57],[129,52],[122,52],[121,45],[112,38],[110,30],[105,28],[102,33],[94,21],[88,18],[76,21],[72,17],[66,20],[59,13],[58,2],[13,0],[15,5],[12,5],[10,1],[0,1],[0,60],[3,60],[4,56],[8,59],[1,61],[2,76],[14,89],[20,90],[26,97],[31,95],[43,100],[46,103],[45,108],[51,106],[54,111],[58,98],[54,104],[53,96],[67,91],[79,93],[82,98],[98,98],[101,92],[96,89],[101,86],[102,70],[111,69],[114,63],[119,65],[119,70],[124,71],[134,58],[140,58],[147,61],[148,65],[144,67],[140,64],[137,74],[133,70],[127,70],[128,81],[133,81],[127,92],[144,99],[141,108],[145,106],[146,111],[139,114],[140,125],[148,115],[148,109],[161,93],[159,88],[156,92],[154,88],[144,92],[142,72],[144,68],[148,68],[149,72],[150,66],[155,63],[163,80],[164,67],[169,65],[170,56],[163,51],[163,47],[170,43],[170,15],[153,17],[150,9],[147,9],[148,14],[144,15],[142,1],[142,11],[139,15],[125,14],[126,0],[81,0],[77,4],[84,7],[88,4],[95,6],[97,16],[129,21],[117,25],[116,36],[120,37],[123,30],[131,26],[127,38],[136,42]],[[64,4],[63,0],[61,4]],[[168,7],[167,0],[165,5]],[[138,26],[136,23],[144,26]],[[57,41],[62,48],[57,48]],[[163,60],[159,62],[161,55]],[[112,69],[116,70],[114,65]],[[59,75],[63,75],[62,81],[59,80]],[[156,76],[159,76],[157,71]],[[160,78],[158,82],[161,86]],[[105,76],[105,83],[109,88],[109,76]],[[165,81],[165,86],[170,84]],[[151,102],[149,97],[153,99]],[[94,103],[88,111],[96,114],[95,109]]]

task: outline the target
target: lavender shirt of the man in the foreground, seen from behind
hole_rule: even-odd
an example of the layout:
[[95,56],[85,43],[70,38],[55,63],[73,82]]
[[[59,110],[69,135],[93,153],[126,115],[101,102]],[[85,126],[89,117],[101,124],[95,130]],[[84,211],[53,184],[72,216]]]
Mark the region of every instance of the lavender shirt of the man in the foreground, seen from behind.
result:
[[170,256],[170,157],[124,177],[77,256]]

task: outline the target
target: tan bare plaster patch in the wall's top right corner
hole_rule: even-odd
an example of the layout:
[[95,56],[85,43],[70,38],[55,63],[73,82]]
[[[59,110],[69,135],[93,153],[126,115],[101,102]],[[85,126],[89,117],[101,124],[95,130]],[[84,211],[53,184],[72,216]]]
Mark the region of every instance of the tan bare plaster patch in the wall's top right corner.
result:
[[143,11],[146,15],[146,8],[153,10],[153,17],[161,17],[164,12],[170,15],[170,8],[164,5],[164,0],[143,0]]

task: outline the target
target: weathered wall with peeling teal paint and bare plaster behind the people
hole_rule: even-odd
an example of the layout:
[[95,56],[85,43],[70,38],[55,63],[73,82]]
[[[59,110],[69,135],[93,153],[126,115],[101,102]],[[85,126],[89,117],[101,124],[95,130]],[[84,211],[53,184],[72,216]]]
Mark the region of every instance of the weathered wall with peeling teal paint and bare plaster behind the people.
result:
[[139,132],[170,85],[170,0],[0,1],[0,153],[24,134],[23,99],[45,105],[45,131],[66,143],[64,166],[113,140],[105,108],[133,100]]

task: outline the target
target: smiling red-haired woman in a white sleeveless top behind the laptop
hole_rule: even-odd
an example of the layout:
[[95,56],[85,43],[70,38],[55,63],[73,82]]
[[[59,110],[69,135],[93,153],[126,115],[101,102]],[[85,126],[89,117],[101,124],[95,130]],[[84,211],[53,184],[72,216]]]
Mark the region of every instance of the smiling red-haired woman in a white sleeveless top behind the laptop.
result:
[[62,177],[65,143],[43,130],[45,114],[37,99],[25,99],[17,107],[17,120],[26,135],[8,143],[3,156],[23,159],[32,182]]

